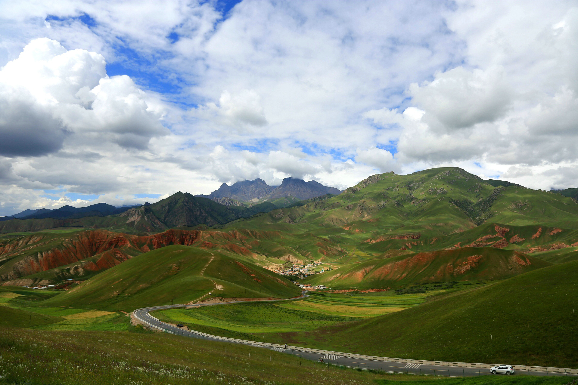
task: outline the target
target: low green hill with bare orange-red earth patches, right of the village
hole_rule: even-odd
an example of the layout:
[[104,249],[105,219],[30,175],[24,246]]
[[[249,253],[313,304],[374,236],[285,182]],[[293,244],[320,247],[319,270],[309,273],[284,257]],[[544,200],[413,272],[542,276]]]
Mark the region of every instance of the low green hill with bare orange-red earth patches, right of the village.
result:
[[550,263],[516,251],[468,247],[369,259],[302,282],[332,289],[397,289],[412,283],[505,279],[546,266]]

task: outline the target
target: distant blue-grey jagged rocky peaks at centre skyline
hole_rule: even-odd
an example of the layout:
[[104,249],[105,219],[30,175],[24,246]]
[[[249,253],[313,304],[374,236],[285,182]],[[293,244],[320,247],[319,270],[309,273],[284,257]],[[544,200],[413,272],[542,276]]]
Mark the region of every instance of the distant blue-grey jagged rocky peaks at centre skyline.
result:
[[[341,190],[335,187],[328,187],[320,184],[317,181],[306,182],[297,178],[285,178],[279,186],[269,186],[264,180],[257,178],[254,181],[241,181],[232,184],[222,184],[217,190],[214,190],[209,195],[195,195],[212,199],[218,203],[225,205],[235,205],[240,203],[256,203],[260,201],[272,201],[284,198],[294,197],[292,201],[311,199],[321,195],[339,195]],[[283,207],[283,205],[279,205]]]

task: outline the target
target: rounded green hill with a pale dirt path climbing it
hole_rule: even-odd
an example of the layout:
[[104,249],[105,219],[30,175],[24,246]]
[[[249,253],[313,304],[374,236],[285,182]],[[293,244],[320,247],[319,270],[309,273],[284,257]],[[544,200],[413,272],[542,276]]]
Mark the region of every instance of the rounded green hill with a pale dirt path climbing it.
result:
[[[214,259],[209,263],[213,255]],[[298,296],[301,290],[287,279],[250,262],[218,252],[172,245],[118,264],[65,294],[47,300],[45,305],[128,312],[144,306],[171,304],[171,301],[188,303],[209,292],[212,296],[205,299],[290,298]]]

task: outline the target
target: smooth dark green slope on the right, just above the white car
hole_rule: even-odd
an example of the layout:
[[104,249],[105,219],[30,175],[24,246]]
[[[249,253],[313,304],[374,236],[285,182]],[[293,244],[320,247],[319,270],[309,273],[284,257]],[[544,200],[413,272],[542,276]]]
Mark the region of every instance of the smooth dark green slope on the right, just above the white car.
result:
[[576,287],[571,261],[294,341],[388,357],[576,368]]

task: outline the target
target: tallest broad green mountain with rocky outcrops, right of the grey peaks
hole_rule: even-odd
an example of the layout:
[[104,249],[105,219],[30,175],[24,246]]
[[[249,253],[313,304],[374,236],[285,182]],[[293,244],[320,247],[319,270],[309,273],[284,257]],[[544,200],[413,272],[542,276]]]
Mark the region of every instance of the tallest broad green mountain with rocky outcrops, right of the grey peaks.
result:
[[266,228],[288,223],[342,227],[350,233],[420,232],[447,236],[481,223],[578,229],[578,204],[570,198],[517,185],[493,186],[457,167],[409,175],[373,175],[339,196],[235,223]]

